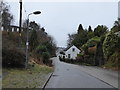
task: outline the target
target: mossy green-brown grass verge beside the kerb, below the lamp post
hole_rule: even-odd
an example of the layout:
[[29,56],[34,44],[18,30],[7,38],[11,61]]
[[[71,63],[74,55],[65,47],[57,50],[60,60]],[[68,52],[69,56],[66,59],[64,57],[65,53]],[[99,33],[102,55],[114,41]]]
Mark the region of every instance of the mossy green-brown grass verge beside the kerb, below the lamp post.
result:
[[3,69],[3,88],[41,88],[53,71],[52,67],[35,64],[30,69]]

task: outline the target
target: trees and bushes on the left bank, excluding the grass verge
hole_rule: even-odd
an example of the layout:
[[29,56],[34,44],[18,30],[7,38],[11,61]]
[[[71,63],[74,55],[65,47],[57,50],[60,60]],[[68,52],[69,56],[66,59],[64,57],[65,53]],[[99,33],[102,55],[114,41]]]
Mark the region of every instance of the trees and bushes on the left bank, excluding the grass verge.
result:
[[[9,5],[3,1],[2,6],[2,57],[3,67],[24,67],[26,61],[26,23],[23,22],[23,31],[18,32],[17,27],[11,30],[14,17]],[[56,44],[52,36],[48,35],[44,27],[35,21],[29,23],[29,57],[38,64],[49,65],[49,59],[55,56]],[[15,30],[16,29],[16,30]],[[19,29],[19,28],[18,28]]]

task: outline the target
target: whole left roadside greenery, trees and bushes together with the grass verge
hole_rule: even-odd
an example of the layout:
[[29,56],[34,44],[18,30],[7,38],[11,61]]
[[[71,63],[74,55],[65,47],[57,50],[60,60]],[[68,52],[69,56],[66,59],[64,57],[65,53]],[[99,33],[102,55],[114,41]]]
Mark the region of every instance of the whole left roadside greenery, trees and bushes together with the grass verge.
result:
[[22,29],[14,31],[11,25],[14,17],[10,6],[0,1],[2,6],[2,69],[3,88],[41,88],[48,75],[53,72],[51,57],[55,56],[56,44],[44,27],[35,21],[29,23],[28,67],[26,65],[26,21]]

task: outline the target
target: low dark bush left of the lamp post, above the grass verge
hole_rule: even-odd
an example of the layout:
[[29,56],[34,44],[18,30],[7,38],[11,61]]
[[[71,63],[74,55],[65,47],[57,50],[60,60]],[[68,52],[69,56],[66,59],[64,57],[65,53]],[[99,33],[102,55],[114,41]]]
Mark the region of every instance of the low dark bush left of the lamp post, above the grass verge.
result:
[[2,50],[3,67],[24,67],[25,60],[25,54],[17,49]]

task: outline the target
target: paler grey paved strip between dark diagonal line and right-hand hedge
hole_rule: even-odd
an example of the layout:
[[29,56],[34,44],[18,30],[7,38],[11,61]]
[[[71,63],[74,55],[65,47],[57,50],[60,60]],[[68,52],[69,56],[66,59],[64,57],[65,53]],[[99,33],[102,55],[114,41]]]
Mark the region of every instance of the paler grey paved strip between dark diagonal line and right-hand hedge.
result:
[[118,71],[112,71],[95,66],[79,66],[81,71],[88,73],[115,88],[118,88]]

